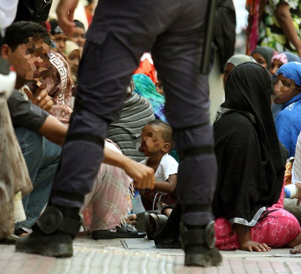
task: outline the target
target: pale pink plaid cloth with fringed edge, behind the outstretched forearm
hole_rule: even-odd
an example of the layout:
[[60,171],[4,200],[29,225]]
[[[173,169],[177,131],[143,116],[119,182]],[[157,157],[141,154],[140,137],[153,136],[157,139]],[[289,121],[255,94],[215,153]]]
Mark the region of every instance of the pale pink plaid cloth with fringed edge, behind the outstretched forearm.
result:
[[[120,149],[108,139],[105,147],[121,154]],[[85,232],[112,229],[125,223],[132,209],[128,198],[131,189],[131,180],[124,170],[102,163],[93,190],[85,197],[82,212]]]

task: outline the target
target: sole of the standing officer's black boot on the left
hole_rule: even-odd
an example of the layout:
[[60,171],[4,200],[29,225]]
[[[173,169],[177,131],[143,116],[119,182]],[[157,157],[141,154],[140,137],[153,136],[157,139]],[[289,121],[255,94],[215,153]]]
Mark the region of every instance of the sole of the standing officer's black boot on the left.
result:
[[71,257],[73,256],[73,248],[70,244],[59,243],[56,245],[49,246],[39,246],[39,247],[30,247],[30,246],[18,246],[16,245],[17,252],[24,253],[34,253],[40,254],[43,256],[51,257]]

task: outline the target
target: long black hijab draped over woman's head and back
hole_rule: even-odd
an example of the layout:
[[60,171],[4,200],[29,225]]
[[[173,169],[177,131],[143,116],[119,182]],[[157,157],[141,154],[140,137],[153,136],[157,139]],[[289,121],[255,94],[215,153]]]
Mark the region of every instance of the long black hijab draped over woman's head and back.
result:
[[[284,165],[270,109],[271,94],[271,76],[258,64],[241,64],[227,78],[225,102],[221,107],[231,110],[214,123],[219,169],[213,201],[216,217],[250,222],[260,208],[271,206],[279,199]],[[244,135],[236,125],[238,121],[253,128],[253,134]],[[238,153],[236,151],[233,161],[233,146],[227,147],[227,144],[236,138]],[[252,142],[246,142],[250,139]],[[243,147],[239,148],[240,144]],[[246,144],[252,146],[246,147]]]

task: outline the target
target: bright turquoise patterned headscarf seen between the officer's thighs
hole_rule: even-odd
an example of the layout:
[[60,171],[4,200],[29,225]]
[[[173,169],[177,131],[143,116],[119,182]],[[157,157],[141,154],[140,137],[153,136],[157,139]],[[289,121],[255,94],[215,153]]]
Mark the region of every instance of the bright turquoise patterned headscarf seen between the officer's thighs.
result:
[[149,100],[157,119],[167,122],[164,114],[165,97],[157,92],[154,83],[144,74],[134,74],[132,78],[135,84],[134,92]]

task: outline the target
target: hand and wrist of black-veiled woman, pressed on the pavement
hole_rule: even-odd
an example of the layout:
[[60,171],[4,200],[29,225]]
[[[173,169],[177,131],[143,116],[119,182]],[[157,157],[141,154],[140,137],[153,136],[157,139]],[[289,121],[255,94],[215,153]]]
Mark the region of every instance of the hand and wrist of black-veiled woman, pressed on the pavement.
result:
[[240,242],[240,249],[250,252],[266,252],[271,250],[271,247],[269,247],[266,243],[252,241],[250,229],[245,225],[234,224],[234,229]]

